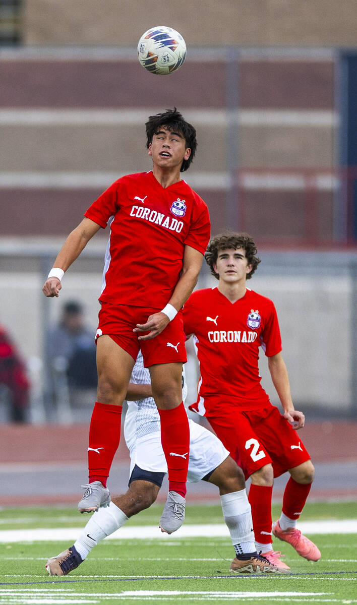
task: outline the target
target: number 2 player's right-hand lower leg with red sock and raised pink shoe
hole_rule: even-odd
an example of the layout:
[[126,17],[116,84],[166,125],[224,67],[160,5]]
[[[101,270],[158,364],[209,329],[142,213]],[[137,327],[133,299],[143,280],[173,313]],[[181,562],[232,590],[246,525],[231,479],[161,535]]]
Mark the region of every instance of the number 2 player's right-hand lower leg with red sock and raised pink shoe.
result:
[[292,545],[300,557],[308,561],[318,561],[321,552],[317,546],[296,529],[296,521],[303,512],[315,469],[311,460],[306,460],[303,464],[290,468],[289,473],[290,479],[284,491],[283,509],[280,519],[273,523],[273,535]]

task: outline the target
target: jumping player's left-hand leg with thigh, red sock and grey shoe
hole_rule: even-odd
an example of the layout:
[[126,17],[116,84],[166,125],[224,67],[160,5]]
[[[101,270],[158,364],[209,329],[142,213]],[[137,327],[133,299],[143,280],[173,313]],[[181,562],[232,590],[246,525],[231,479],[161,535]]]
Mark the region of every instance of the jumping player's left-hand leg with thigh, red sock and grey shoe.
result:
[[134,359],[110,336],[97,339],[98,388],[89,434],[89,483],[82,486],[80,512],[96,511],[110,502],[106,480],[120,441],[122,405],[133,367]]

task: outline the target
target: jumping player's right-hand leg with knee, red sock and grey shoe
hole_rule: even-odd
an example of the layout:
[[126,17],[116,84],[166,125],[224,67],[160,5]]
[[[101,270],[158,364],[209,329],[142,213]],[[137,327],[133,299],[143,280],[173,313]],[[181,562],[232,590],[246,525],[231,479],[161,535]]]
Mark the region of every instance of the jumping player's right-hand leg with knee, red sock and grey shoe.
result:
[[160,528],[171,534],[185,520],[189,424],[182,401],[182,363],[156,364],[149,370],[152,395],[160,414],[161,442],[169,473],[169,493]]

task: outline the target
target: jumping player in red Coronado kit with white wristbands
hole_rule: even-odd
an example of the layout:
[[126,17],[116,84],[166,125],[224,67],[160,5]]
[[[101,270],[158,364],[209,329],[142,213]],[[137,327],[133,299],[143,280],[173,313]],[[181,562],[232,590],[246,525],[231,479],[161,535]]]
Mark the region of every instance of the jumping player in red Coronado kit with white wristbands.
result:
[[94,201],[62,246],[43,291],[58,296],[64,272],[100,227],[110,225],[96,333],[98,390],[90,425],[89,483],[78,508],[91,512],[110,502],[106,479],[140,348],[169,471],[160,526],[171,533],[185,518],[189,453],[181,384],[186,362],[182,306],[197,283],[210,224],[206,204],[180,175],[197,147],[193,126],[176,109],[151,116],[146,146],[152,171],[119,178]]

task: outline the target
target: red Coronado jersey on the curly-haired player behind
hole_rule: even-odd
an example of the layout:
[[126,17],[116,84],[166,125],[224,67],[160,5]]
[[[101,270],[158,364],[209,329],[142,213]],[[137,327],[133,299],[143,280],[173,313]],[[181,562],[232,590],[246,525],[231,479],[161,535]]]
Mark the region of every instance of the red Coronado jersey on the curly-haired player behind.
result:
[[[281,336],[273,302],[246,290],[243,298],[229,301],[217,287],[196,290],[183,307],[186,335],[194,334],[200,365],[198,399],[190,406],[202,416],[209,397],[221,397],[240,410],[269,404],[260,384],[260,347],[266,356],[281,351]],[[217,405],[217,404],[216,404]]]

